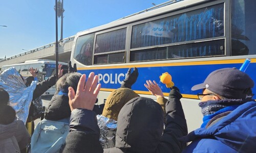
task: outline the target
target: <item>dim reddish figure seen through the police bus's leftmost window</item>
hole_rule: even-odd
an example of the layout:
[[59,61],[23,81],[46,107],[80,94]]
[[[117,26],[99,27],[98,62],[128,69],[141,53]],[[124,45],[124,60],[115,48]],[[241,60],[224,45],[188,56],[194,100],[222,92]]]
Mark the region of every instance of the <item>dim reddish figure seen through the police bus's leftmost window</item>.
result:
[[92,52],[93,48],[91,47],[91,43],[84,43],[81,47],[80,53],[75,57],[75,59],[84,65],[92,65]]

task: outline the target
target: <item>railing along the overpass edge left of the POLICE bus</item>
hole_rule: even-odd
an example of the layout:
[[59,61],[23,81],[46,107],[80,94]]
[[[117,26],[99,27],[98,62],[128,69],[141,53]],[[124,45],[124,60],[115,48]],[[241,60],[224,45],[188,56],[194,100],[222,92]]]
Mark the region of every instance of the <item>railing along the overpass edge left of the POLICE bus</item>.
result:
[[[62,41],[59,41],[59,42],[69,42],[71,40],[74,40],[75,36],[71,36],[71,37],[68,37],[68,38],[65,38],[63,39]],[[49,44],[46,44],[44,46],[40,46],[40,47],[37,47],[37,48],[34,48],[34,49],[30,49],[28,50],[27,52],[24,52],[24,53],[20,53],[20,54],[17,54],[17,55],[14,55],[14,56],[11,56],[11,57],[8,57],[6,59],[2,59],[0,60],[0,62],[3,62],[3,61],[7,61],[7,60],[11,60],[11,59],[14,59],[14,58],[17,58],[17,57],[20,57],[20,56],[24,56],[24,55],[27,55],[27,54],[30,54],[30,53],[34,53],[34,52],[37,52],[41,49],[45,49],[45,48],[49,48],[51,46],[53,46],[55,44],[55,42],[52,42],[52,43],[49,43]]]

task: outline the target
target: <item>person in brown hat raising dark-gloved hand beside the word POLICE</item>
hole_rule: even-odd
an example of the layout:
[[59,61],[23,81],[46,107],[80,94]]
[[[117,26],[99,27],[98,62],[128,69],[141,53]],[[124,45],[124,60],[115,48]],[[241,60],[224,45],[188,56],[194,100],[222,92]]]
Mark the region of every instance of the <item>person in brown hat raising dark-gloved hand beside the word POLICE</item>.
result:
[[109,128],[106,126],[106,123],[102,123],[101,119],[104,118],[104,120],[108,120],[108,122],[116,125],[118,114],[122,107],[132,98],[139,96],[131,89],[132,85],[137,81],[139,72],[137,67],[134,67],[132,73],[131,71],[132,69],[129,68],[120,88],[112,91],[106,98],[102,114],[97,116],[100,127],[100,142],[103,148],[115,146],[116,126]]

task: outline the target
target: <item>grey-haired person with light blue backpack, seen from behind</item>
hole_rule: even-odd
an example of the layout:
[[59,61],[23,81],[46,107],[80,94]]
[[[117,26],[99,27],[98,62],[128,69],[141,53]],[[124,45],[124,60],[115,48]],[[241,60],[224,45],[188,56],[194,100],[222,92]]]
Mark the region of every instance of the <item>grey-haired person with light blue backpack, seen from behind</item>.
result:
[[31,152],[59,152],[65,145],[71,114],[68,87],[76,88],[80,77],[80,73],[68,73],[57,81],[57,91],[46,108],[45,119],[37,124],[32,135]]

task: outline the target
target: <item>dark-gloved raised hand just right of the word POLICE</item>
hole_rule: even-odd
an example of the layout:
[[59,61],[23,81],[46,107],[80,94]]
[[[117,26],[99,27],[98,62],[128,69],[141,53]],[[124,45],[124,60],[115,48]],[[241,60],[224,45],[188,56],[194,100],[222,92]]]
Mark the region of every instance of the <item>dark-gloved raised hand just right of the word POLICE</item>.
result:
[[129,68],[126,73],[127,75],[121,84],[121,88],[130,88],[131,89],[132,85],[137,81],[137,78],[139,75],[137,67],[134,67],[132,73],[131,73],[131,71],[132,71],[132,69]]

